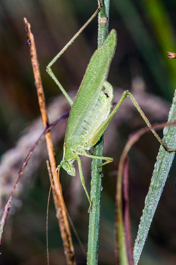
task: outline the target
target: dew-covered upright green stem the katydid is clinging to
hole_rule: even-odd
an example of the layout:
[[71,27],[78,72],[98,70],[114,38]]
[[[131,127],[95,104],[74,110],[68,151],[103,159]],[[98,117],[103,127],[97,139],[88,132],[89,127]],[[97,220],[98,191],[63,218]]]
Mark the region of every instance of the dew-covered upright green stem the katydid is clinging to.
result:
[[[109,1],[103,1],[106,16],[109,20]],[[99,12],[98,16],[98,48],[102,45],[108,34],[108,22],[101,23],[101,18],[104,16],[104,10]],[[103,136],[99,142],[94,146],[94,156],[103,156]],[[99,245],[99,222],[100,222],[100,198],[101,198],[101,174],[97,166],[102,164],[102,160],[93,159],[92,161],[92,179],[90,198],[92,201],[92,209],[89,217],[89,236],[88,236],[88,251],[87,264],[98,264],[98,245]]]

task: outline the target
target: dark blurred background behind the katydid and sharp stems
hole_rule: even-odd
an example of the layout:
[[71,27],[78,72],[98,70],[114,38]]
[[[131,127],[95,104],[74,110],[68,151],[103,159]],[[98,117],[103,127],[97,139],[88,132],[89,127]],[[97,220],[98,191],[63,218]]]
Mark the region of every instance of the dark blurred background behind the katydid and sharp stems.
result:
[[[96,8],[96,0],[0,0],[2,207],[10,195],[22,160],[42,132],[42,127],[37,127],[40,118],[36,119],[40,111],[23,18],[26,17],[31,24],[31,31],[35,37],[44,92],[52,122],[68,110],[69,105],[62,96],[55,98],[61,92],[45,71],[46,66]],[[151,123],[167,120],[176,87],[176,60],[167,58],[166,53],[176,52],[175,18],[176,2],[173,0],[111,0],[110,2],[109,30],[112,28],[117,30],[118,43],[108,81],[113,85],[114,91],[116,87],[132,91]],[[97,18],[53,66],[53,72],[66,91],[72,93],[72,98],[96,48]],[[120,90],[120,93],[123,90]],[[114,101],[116,102],[116,96]],[[56,105],[59,105],[59,110],[56,110]],[[124,102],[124,108],[119,110],[118,124],[114,120],[114,124],[109,125],[105,133],[104,155],[113,157],[114,161],[104,167],[102,180],[99,264],[115,264],[114,197],[118,161],[129,133],[145,126],[136,110],[128,107],[128,103]],[[127,110],[130,110],[130,113]],[[116,115],[118,116],[118,112]],[[66,122],[63,122],[55,129],[55,133],[53,131],[58,164],[62,159],[65,130]],[[162,137],[162,131],[159,134]],[[18,139],[21,140],[17,144]],[[46,264],[47,262],[45,226],[50,184],[45,163],[47,158],[45,141],[37,148],[35,161],[33,159],[31,164],[29,162],[13,201],[14,206],[7,221],[0,264]],[[10,151],[6,153],[9,149]],[[133,240],[136,238],[158,149],[159,143],[155,137],[146,134],[129,153],[129,200]],[[20,151],[22,153],[19,155]],[[84,161],[83,173],[87,179],[86,186],[90,191],[91,161],[86,158],[82,161]],[[175,264],[175,167],[174,162],[139,264]],[[61,170],[60,176],[68,210],[86,248],[89,204],[80,184],[79,175],[72,178]],[[65,264],[52,198],[49,206],[48,234],[50,264]],[[78,264],[86,264],[74,235],[73,241]]]

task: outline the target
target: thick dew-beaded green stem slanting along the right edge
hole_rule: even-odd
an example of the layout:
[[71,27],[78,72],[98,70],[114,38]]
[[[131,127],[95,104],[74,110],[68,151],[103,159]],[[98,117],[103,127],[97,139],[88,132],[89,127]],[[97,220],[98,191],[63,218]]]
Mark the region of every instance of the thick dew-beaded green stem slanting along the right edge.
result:
[[[176,120],[176,90],[173,98],[173,103],[169,112],[168,121]],[[172,149],[176,148],[176,126],[166,126],[163,130],[163,141]],[[165,182],[168,178],[170,167],[175,156],[175,152],[166,152],[161,145],[158,156],[156,158],[155,168],[151,178],[149,192],[145,199],[145,206],[142,211],[141,222],[135,240],[135,246],[133,251],[135,265],[138,264],[143,246],[145,244],[152,219],[154,217],[156,207],[158,206],[161,194],[164,189]]]

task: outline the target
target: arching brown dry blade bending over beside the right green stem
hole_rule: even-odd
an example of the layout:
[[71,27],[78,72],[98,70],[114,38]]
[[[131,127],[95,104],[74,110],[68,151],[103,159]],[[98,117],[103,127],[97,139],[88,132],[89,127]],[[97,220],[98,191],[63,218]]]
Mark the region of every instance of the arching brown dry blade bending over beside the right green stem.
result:
[[[172,126],[175,125],[176,122],[162,122],[158,123],[154,126],[152,126],[153,129],[159,130],[162,129],[165,126]],[[128,172],[125,172],[126,167],[126,160],[127,155],[133,144],[135,144],[139,138],[145,134],[146,132],[149,132],[149,127],[143,127],[142,129],[130,134],[128,136],[128,140],[126,142],[126,145],[123,149],[123,152],[121,154],[119,165],[118,165],[118,174],[117,174],[117,185],[116,185],[116,209],[115,209],[115,258],[116,258],[116,264],[119,264],[119,241],[123,241],[124,248],[128,251],[128,258],[130,258],[129,264],[134,264],[133,258],[132,258],[132,249],[131,249],[131,243],[132,242],[132,236],[131,236],[131,229],[130,229],[130,218],[129,218],[129,205],[128,205],[128,195],[126,194],[126,200],[124,200],[124,189],[123,189],[123,182],[128,181],[127,175]],[[125,178],[126,179],[125,179]],[[125,183],[127,185],[127,183]],[[125,213],[125,210],[127,211]],[[123,224],[124,223],[124,224]],[[119,230],[120,227],[123,226],[125,241],[120,238]],[[130,251],[129,251],[130,250]]]

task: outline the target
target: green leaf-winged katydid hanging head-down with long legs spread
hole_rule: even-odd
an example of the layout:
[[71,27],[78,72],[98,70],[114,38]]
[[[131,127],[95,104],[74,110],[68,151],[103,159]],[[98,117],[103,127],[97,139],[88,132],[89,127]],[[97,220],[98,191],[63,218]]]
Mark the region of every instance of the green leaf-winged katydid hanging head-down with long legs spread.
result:
[[91,18],[47,66],[47,72],[59,86],[71,105],[64,141],[63,159],[61,164],[58,165],[58,168],[63,167],[69,175],[75,176],[76,172],[73,162],[77,160],[81,183],[90,202],[89,210],[91,209],[92,202],[85,187],[80,156],[84,155],[90,158],[105,160],[103,164],[98,166],[100,173],[103,175],[100,167],[112,162],[113,158],[93,156],[87,152],[99,141],[113,115],[127,96],[130,97],[138,112],[141,114],[143,120],[146,122],[152,133],[156,136],[160,144],[164,146],[166,151],[175,151],[175,149],[170,149],[164,144],[164,142],[152,128],[150,122],[139,107],[137,101],[128,90],[123,92],[121,99],[111,112],[113,87],[106,81],[106,79],[117,46],[117,33],[114,29],[111,30],[103,45],[92,55],[74,101],[71,100],[67,92],[63,89],[62,85],[53,74],[51,66],[77,38],[82,30],[84,30],[84,28],[96,16],[101,8],[104,7],[100,6],[99,3],[99,8],[95,11]]

